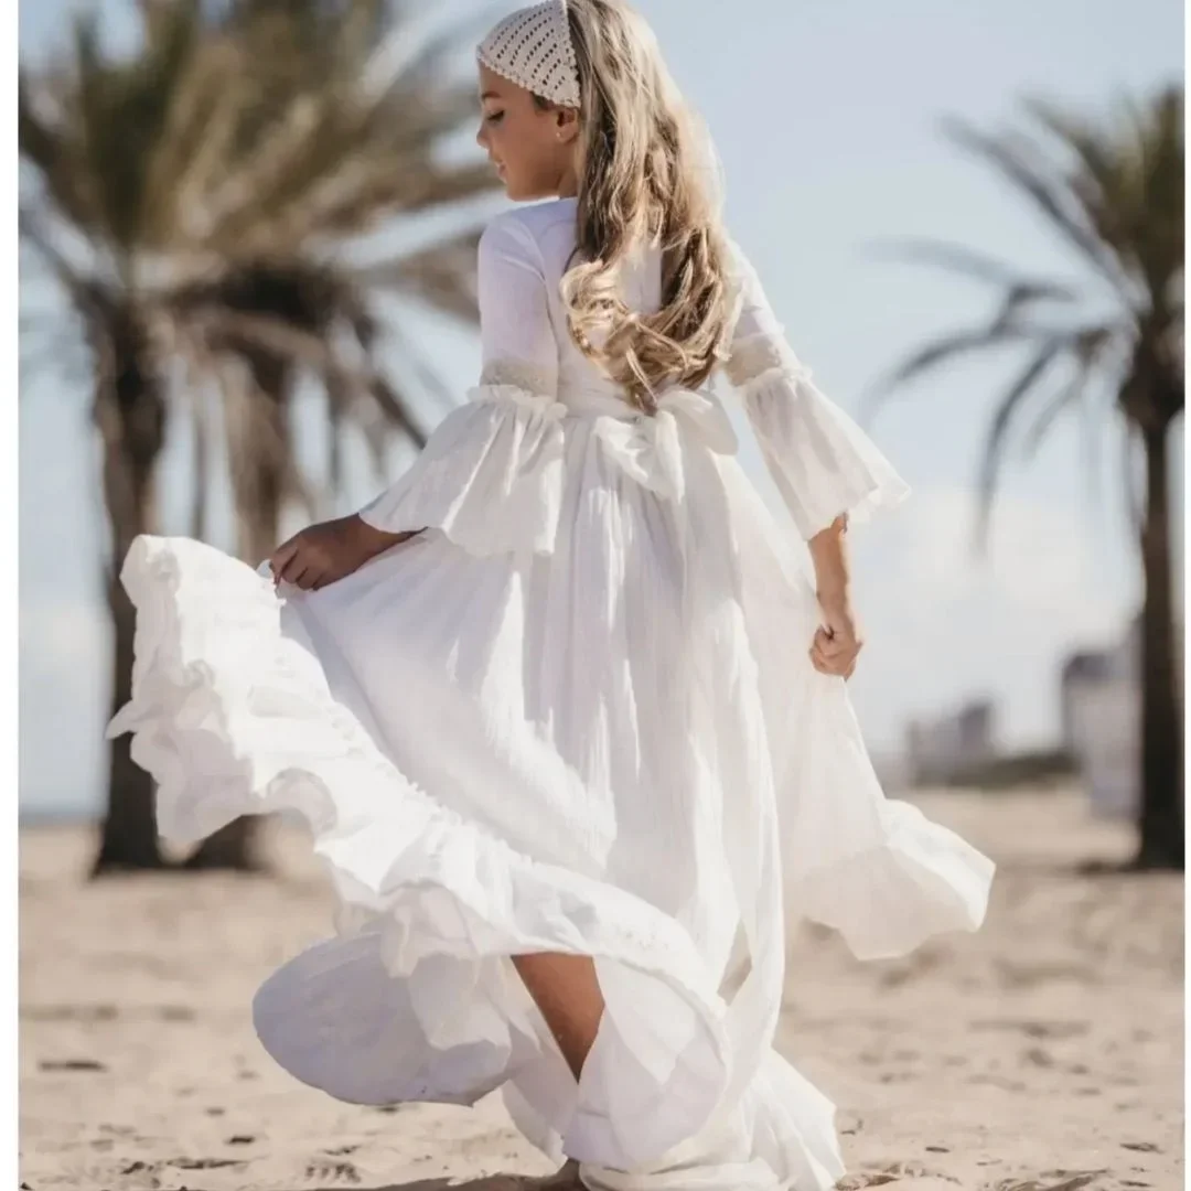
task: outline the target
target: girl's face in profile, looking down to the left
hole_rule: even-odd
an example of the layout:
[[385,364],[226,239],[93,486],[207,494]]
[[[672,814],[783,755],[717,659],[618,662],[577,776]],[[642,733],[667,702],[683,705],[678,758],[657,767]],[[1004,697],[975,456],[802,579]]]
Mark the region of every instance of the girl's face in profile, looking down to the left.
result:
[[515,200],[578,193],[575,143],[579,113],[540,105],[535,98],[480,63],[482,116],[476,142],[495,164]]

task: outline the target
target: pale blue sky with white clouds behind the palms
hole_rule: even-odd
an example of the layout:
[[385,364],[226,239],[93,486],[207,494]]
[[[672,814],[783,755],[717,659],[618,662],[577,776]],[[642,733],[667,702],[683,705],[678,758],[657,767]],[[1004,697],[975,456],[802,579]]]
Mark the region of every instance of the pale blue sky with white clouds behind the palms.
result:
[[[21,56],[54,45],[75,7],[21,0]],[[126,42],[133,6],[96,0],[94,7],[113,40]],[[1087,283],[1033,211],[944,137],[943,121],[1004,127],[1019,120],[1027,95],[1096,114],[1122,95],[1145,96],[1183,77],[1179,0],[638,0],[638,7],[716,138],[731,235],[819,387],[853,413],[910,349],[989,311],[979,287],[893,260],[881,250],[887,242],[950,241],[1023,272]],[[416,326],[424,354],[462,399],[479,366],[476,337],[434,320]],[[912,718],[974,698],[994,700],[1005,748],[1055,741],[1064,657],[1114,642],[1137,609],[1124,442],[1103,409],[1060,422],[1029,462],[1012,457],[990,551],[973,556],[981,445],[997,397],[1019,367],[990,357],[949,368],[891,398],[866,423],[913,488],[908,504],[852,536],[866,648],[850,690],[877,753],[897,750]],[[87,409],[85,384],[23,370],[20,802],[29,810],[89,811],[104,793],[106,544]],[[313,414],[310,423],[313,453]],[[163,501],[175,518],[170,531],[181,532],[181,437],[169,459]],[[785,517],[747,435],[742,461]],[[356,504],[375,490],[362,467],[356,487],[349,494]],[[1180,574],[1181,557],[1179,544]]]

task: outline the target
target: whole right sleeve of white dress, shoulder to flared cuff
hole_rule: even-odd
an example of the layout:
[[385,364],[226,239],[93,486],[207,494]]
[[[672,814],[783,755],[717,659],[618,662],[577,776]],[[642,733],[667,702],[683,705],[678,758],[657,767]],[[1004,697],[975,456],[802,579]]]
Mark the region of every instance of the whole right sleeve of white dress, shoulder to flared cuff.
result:
[[910,488],[872,439],[811,381],[786,341],[756,270],[736,244],[740,313],[728,379],[741,391],[766,467],[805,540],[841,513],[860,522]]

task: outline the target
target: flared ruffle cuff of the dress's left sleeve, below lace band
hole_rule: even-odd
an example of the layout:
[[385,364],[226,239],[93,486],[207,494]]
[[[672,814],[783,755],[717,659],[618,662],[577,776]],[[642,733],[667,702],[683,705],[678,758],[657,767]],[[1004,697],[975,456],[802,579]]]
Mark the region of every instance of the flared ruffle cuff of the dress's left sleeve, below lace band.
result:
[[517,385],[473,388],[360,517],[389,534],[436,528],[472,554],[550,553],[566,412]]

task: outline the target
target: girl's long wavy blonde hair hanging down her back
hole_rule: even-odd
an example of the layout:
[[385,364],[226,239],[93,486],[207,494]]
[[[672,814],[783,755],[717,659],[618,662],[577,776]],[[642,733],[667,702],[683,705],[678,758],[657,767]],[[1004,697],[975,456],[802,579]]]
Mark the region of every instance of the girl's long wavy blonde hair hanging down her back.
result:
[[[561,282],[572,338],[646,412],[667,384],[701,385],[724,354],[728,247],[701,130],[644,19],[623,0],[568,0],[579,69],[575,254]],[[705,143],[705,142],[704,142]],[[630,311],[619,269],[646,242],[662,254],[661,308]]]

